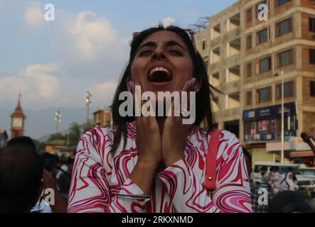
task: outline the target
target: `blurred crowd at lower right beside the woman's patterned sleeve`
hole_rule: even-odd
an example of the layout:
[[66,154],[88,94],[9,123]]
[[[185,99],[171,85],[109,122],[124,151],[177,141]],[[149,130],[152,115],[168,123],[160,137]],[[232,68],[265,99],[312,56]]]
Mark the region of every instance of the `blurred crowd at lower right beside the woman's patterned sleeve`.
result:
[[[261,182],[253,182],[252,158],[243,148],[252,195],[254,213],[312,213],[311,206],[305,197],[297,192],[297,177],[292,168],[287,170],[285,177],[279,173],[279,167],[260,168]],[[267,194],[265,194],[267,193]]]

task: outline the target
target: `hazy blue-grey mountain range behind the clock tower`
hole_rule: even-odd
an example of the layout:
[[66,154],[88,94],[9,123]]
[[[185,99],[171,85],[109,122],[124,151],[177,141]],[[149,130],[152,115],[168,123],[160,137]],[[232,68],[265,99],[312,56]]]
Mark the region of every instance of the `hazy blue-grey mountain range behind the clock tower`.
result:
[[[23,106],[22,106],[23,108]],[[30,136],[33,139],[44,140],[49,137],[50,134],[56,132],[56,124],[54,121],[55,112],[60,111],[61,122],[59,123],[59,131],[67,131],[70,123],[84,123],[86,121],[86,108],[49,108],[40,111],[32,111],[30,109],[23,109],[27,118],[25,121],[24,134]],[[0,108],[0,128],[6,130],[9,136],[11,136],[10,114],[14,109]],[[90,112],[92,113],[93,110]],[[92,118],[92,114],[90,115]]]

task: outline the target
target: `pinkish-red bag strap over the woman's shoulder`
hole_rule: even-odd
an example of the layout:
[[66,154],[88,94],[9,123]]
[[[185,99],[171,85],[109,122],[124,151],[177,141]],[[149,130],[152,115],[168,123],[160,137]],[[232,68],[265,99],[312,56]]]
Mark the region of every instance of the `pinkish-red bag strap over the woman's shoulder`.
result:
[[207,157],[205,159],[205,189],[212,194],[215,190],[217,153],[221,131],[215,130],[210,135]]

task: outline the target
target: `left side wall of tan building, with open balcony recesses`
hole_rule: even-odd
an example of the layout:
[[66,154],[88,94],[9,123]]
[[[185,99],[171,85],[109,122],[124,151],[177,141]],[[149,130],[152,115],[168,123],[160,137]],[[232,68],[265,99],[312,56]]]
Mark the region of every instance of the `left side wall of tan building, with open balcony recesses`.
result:
[[[213,102],[218,128],[240,136],[241,16],[240,2],[210,17],[208,28],[196,34],[196,45],[210,75],[210,84],[224,95],[215,94]],[[218,117],[220,116],[220,118]]]

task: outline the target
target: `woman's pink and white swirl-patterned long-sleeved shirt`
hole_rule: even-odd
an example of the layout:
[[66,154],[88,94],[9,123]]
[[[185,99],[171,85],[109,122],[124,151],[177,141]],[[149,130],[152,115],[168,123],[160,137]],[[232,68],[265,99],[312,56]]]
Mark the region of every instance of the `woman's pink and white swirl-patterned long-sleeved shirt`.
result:
[[128,123],[124,149],[121,143],[113,152],[113,138],[111,128],[93,128],[82,136],[73,167],[69,212],[252,212],[245,159],[233,133],[220,134],[213,199],[203,188],[210,135],[201,128],[189,130],[185,158],[156,175],[151,199],[117,196],[143,194],[129,179],[138,158],[135,123]]

